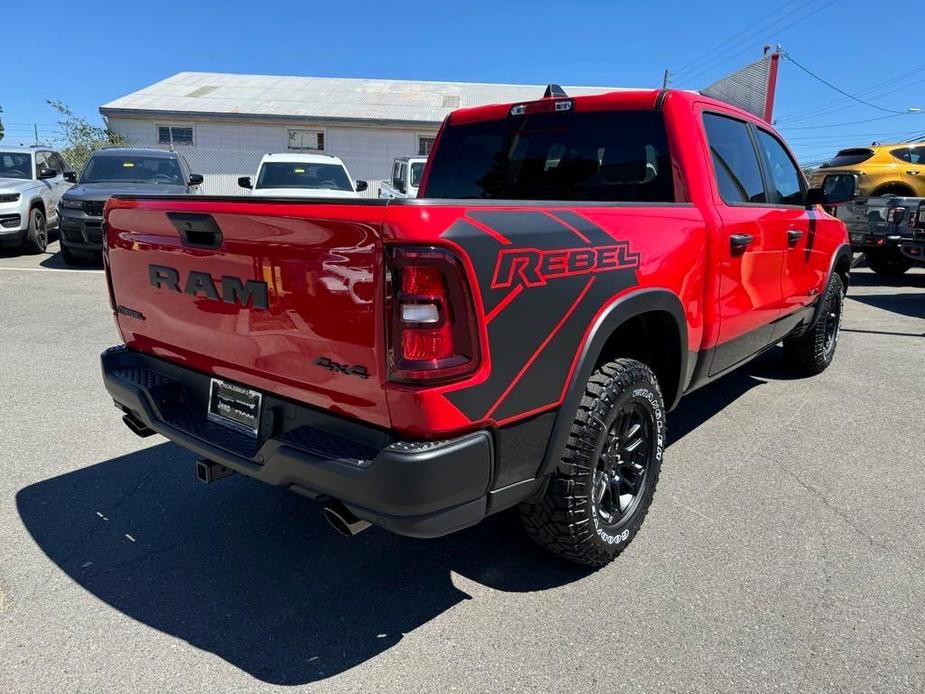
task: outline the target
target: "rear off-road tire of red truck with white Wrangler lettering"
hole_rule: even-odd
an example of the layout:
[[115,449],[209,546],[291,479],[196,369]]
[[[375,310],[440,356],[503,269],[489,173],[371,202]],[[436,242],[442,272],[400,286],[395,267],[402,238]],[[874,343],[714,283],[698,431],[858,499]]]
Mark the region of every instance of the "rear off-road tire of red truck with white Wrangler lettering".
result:
[[[613,525],[603,520],[595,501],[611,427],[627,409],[649,417],[649,449],[638,498]],[[579,564],[600,567],[632,541],[648,513],[661,469],[665,444],[665,404],[658,380],[645,364],[616,359],[597,369],[585,386],[564,455],[537,503],[520,506],[520,518],[540,547]],[[619,437],[618,437],[619,438]],[[619,456],[617,456],[619,459]],[[637,466],[638,467],[638,466]],[[606,484],[604,485],[606,487]],[[622,497],[620,497],[622,499]]]

